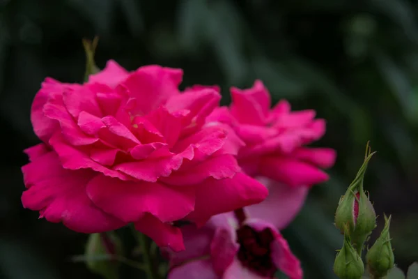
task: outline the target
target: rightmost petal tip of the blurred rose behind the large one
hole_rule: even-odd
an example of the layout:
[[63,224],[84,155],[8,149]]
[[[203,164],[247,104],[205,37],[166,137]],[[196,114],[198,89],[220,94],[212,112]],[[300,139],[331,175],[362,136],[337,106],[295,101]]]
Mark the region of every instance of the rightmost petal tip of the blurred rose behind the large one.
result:
[[336,151],[330,148],[305,148],[301,147],[293,153],[295,158],[304,162],[317,165],[323,169],[332,167],[336,159]]

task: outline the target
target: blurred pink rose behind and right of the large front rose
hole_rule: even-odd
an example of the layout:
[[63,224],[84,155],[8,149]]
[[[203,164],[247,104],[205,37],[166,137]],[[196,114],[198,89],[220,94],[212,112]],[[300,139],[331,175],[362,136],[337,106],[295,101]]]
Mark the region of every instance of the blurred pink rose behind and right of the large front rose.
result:
[[[281,220],[280,229],[286,227],[300,211],[309,188],[329,179],[321,168],[334,165],[334,149],[307,147],[323,137],[325,120],[315,119],[314,110],[291,111],[286,100],[270,109],[270,93],[260,80],[249,89],[232,87],[231,98],[229,107],[217,107],[209,119],[231,126],[245,142],[237,158],[246,174],[263,177],[270,190],[280,188],[270,210],[275,204],[287,204],[286,214],[275,217]],[[265,206],[254,207],[266,211]]]

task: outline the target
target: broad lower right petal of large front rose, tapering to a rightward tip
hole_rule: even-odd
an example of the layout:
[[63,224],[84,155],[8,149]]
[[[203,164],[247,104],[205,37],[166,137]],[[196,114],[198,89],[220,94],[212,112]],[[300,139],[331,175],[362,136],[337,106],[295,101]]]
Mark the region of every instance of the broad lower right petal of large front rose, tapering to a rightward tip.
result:
[[263,184],[240,172],[232,179],[206,179],[196,186],[196,205],[186,219],[201,226],[211,216],[256,204],[267,195]]

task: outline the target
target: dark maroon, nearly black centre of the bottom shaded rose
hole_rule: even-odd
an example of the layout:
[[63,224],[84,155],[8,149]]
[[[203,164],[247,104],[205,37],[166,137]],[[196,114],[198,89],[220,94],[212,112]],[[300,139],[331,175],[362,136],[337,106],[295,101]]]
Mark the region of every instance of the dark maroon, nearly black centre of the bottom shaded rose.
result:
[[251,227],[244,225],[237,230],[237,236],[238,243],[240,243],[238,259],[242,265],[259,276],[274,276],[277,269],[271,257],[270,246],[274,236],[270,229],[256,232]]

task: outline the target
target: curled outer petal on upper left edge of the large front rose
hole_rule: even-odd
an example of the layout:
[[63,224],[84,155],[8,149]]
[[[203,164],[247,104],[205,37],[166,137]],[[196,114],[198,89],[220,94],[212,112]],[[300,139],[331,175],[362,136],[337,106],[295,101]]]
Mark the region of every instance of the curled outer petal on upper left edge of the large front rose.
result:
[[35,98],[33,99],[31,122],[35,134],[43,142],[48,142],[49,138],[52,137],[52,134],[56,130],[59,130],[59,123],[54,119],[49,119],[49,117],[45,116],[43,107],[47,104],[47,101],[52,94],[62,96],[64,86],[65,84],[61,84],[61,82],[57,82],[48,77],[42,82],[42,88],[36,93]]

